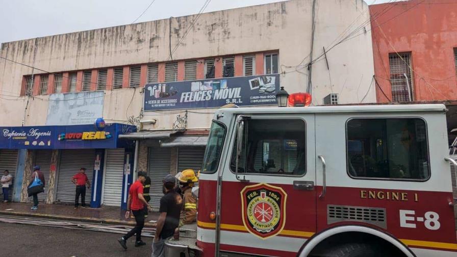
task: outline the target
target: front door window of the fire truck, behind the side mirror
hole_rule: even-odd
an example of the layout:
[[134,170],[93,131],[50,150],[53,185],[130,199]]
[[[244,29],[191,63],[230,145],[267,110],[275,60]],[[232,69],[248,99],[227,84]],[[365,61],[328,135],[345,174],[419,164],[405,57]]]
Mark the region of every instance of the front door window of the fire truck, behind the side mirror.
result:
[[[303,175],[306,163],[305,123],[300,119],[247,119],[239,173]],[[231,169],[235,171],[236,145]]]

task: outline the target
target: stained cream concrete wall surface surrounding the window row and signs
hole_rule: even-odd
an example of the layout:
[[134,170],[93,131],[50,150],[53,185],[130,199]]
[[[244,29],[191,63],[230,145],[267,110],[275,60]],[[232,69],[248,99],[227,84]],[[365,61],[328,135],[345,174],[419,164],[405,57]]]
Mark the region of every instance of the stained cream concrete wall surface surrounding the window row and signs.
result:
[[[281,85],[289,93],[306,91],[307,68],[296,66],[309,61],[306,57],[311,46],[312,2],[292,0],[203,14],[176,48],[173,60],[277,50],[280,70],[284,72]],[[317,1],[314,57],[323,53],[323,46],[332,46],[349,25],[356,28],[368,20],[367,8],[363,0]],[[172,48],[195,17],[171,19]],[[2,44],[0,55],[32,64],[36,40],[34,66],[49,72],[163,62],[169,59],[168,22],[163,19],[9,42]],[[365,94],[364,102],[375,101],[374,87],[370,89],[374,69],[369,31],[333,48],[327,53],[327,60],[329,70],[325,59],[313,64],[314,105],[322,104],[322,98],[331,92],[340,94],[341,104],[360,102]],[[0,60],[0,92],[11,95],[2,96],[8,100],[0,99],[1,125],[20,125],[26,106],[26,125],[45,123],[47,96],[15,97],[20,94],[23,75],[31,73],[31,68]],[[122,122],[128,116],[138,116],[142,97],[139,89],[106,91],[104,118]],[[154,128],[170,128],[175,112],[150,112],[145,118],[157,118]],[[189,113],[188,127],[208,127],[214,109],[197,112],[203,114]]]

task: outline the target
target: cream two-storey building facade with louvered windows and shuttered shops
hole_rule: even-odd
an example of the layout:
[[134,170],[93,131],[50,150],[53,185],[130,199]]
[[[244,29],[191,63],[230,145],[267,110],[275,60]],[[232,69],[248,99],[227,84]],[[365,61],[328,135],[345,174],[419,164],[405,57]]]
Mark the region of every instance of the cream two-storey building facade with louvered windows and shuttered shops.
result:
[[[225,104],[274,106],[280,87],[310,92],[312,105],[375,102],[368,20],[363,0],[292,0],[3,43],[0,125],[87,125],[97,117],[134,125],[136,132],[118,133],[123,147],[85,152],[98,168],[93,205],[122,203],[141,170],[153,180],[157,208],[165,174],[199,169],[214,111]],[[54,151],[59,178],[71,160]],[[25,179],[37,152],[4,148],[0,160],[10,161],[0,168]],[[54,183],[49,203],[71,187]]]

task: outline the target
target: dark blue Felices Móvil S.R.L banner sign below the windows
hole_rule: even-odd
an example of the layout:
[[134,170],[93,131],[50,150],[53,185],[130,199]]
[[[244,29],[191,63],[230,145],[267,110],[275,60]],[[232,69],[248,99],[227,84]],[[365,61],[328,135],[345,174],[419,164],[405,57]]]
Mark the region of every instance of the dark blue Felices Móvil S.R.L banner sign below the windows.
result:
[[146,84],[144,110],[276,105],[279,74]]

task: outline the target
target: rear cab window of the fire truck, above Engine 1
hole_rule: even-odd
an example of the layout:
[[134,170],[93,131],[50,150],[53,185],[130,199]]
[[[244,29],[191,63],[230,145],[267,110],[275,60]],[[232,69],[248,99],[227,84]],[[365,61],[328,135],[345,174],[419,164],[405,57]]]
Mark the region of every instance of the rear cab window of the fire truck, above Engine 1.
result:
[[347,170],[352,177],[427,179],[427,131],[419,118],[351,119]]

